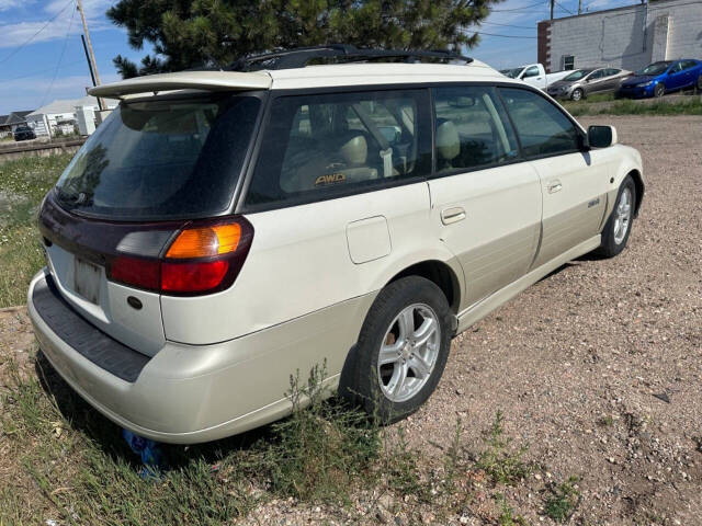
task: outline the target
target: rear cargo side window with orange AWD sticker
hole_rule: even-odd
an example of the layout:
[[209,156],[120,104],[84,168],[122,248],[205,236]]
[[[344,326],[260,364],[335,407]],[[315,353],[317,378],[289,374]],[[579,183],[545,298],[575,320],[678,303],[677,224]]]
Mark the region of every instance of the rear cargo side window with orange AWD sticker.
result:
[[280,96],[271,107],[247,208],[319,201],[427,175],[428,93]]

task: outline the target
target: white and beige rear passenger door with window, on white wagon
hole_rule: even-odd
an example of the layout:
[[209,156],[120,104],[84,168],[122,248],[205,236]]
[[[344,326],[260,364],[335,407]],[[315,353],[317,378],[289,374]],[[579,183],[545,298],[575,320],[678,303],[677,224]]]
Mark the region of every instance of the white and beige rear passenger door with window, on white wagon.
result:
[[463,267],[465,309],[529,268],[541,225],[541,187],[533,167],[519,162],[495,88],[435,88],[433,100],[431,220]]

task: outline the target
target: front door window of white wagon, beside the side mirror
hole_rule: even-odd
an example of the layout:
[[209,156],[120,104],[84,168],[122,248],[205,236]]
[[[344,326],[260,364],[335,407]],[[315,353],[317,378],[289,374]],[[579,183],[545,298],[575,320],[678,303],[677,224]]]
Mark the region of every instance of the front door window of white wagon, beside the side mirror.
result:
[[525,156],[552,156],[578,149],[578,130],[553,103],[528,90],[499,90]]

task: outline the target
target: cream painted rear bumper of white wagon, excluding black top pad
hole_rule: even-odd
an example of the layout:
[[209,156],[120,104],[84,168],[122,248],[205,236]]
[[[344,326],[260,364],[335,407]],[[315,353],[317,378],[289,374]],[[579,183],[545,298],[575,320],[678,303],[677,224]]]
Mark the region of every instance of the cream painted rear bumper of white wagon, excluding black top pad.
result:
[[[42,316],[34,291],[46,286],[46,278],[42,271],[32,281],[27,308],[49,363],[78,395],[117,425],[174,444],[222,438],[284,416],[291,409],[285,393],[296,370],[305,375],[315,364],[327,362],[327,382],[335,386],[374,296],[220,344],[167,342],[154,357],[145,358],[134,381],[128,381],[132,378],[116,376],[67,343],[60,312],[53,319]],[[329,348],[330,342],[335,348]]]

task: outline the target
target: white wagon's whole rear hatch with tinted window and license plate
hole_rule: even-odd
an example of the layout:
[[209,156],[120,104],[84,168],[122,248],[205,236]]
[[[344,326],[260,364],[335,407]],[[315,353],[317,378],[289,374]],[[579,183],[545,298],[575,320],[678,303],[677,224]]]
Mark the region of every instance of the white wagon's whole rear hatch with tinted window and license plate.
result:
[[260,106],[256,93],[125,101],[83,145],[39,229],[57,288],[88,321],[144,354],[162,347],[160,261],[183,229],[229,214]]

